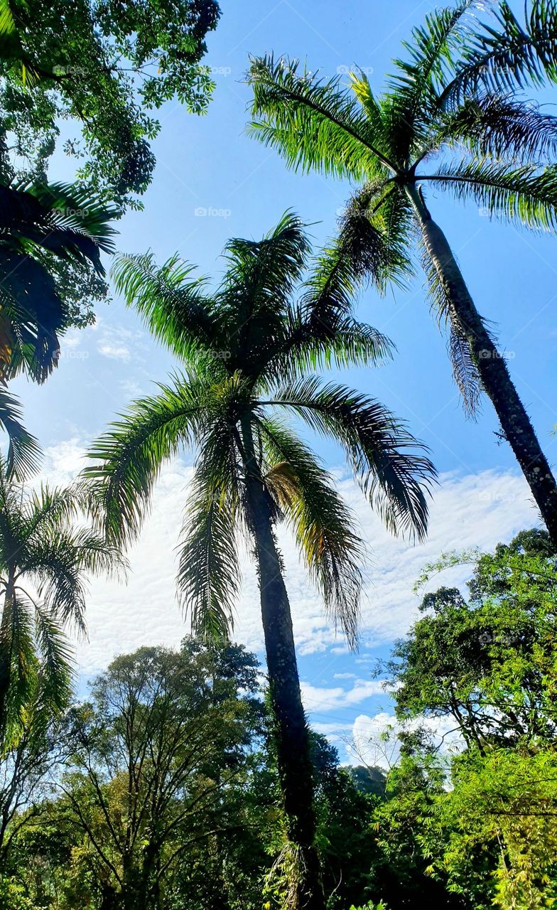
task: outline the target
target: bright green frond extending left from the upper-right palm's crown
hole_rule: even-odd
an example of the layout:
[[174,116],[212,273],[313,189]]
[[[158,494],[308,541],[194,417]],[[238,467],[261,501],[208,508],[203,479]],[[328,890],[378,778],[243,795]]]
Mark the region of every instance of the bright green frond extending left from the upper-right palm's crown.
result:
[[339,77],[324,80],[300,70],[299,61],[265,56],[252,58],[248,83],[255,118],[248,132],[289,167],[356,180],[396,172],[380,151],[377,125]]

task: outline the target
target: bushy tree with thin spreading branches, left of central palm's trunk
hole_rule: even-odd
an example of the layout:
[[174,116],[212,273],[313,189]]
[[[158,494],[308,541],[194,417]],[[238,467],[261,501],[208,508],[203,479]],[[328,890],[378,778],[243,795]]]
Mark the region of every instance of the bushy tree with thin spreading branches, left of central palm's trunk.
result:
[[198,843],[242,830],[244,810],[228,800],[261,725],[257,668],[238,646],[141,648],[117,657],[70,713],[57,812],[81,832],[76,871],[86,858],[105,901],[154,910]]

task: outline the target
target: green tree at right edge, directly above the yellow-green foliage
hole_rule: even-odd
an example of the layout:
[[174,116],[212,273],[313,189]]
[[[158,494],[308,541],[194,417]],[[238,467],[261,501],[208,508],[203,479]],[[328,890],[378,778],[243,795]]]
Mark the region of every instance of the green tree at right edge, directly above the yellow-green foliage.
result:
[[[551,555],[549,555],[551,553]],[[470,599],[454,588],[426,594],[408,637],[387,665],[400,719],[451,716],[467,746],[554,738],[557,557],[540,532],[494,554],[447,554],[421,581],[474,561]]]

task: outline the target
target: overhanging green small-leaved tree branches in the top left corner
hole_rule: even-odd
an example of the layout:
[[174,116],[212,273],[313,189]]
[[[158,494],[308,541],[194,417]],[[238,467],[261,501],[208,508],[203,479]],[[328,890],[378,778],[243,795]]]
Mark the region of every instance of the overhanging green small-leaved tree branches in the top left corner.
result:
[[81,122],[81,140],[65,145],[78,177],[133,204],[155,164],[149,142],[160,124],[148,112],[174,96],[206,109],[213,83],[200,60],[216,0],[2,0],[0,13],[4,138],[40,178],[60,120]]

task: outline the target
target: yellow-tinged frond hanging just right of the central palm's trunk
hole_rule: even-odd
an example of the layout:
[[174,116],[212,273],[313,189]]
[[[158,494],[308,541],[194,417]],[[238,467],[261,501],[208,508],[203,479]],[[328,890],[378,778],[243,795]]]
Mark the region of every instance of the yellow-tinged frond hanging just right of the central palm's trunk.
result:
[[278,501],[329,617],[350,647],[358,641],[363,544],[355,520],[314,454],[277,420],[259,420],[266,460],[265,485]]

